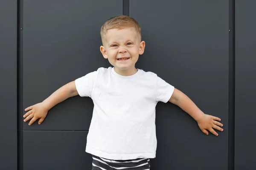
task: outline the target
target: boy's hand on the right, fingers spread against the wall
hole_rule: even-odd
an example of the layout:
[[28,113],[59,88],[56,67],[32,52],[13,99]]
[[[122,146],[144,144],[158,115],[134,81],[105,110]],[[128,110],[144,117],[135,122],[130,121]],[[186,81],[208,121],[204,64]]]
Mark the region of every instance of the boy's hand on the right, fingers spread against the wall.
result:
[[215,116],[204,114],[204,116],[202,116],[201,119],[199,119],[197,122],[203,133],[208,135],[209,133],[207,130],[209,130],[212,134],[218,136],[218,133],[216,133],[214,129],[223,131],[221,128],[223,125],[218,121],[221,121],[221,119]]

